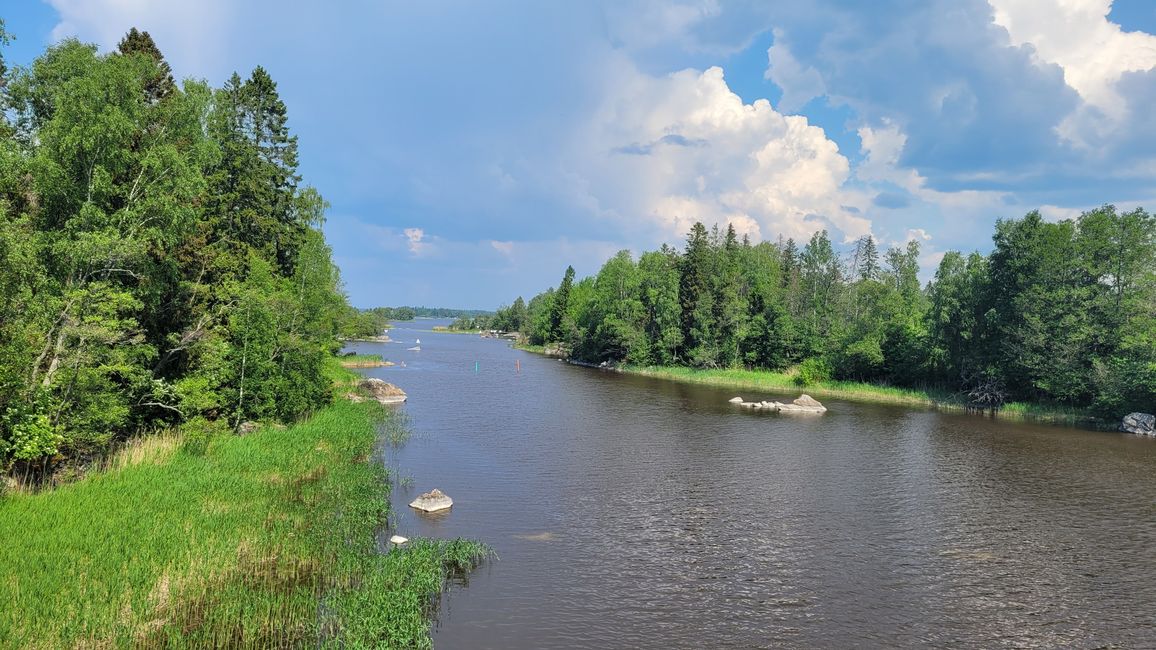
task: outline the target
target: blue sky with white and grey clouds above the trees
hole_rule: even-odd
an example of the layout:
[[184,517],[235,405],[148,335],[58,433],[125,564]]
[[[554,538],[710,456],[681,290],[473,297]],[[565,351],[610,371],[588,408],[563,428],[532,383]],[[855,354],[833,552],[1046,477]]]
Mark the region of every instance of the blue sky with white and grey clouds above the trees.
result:
[[[287,7],[292,7],[287,9]],[[681,248],[918,239],[1156,209],[1150,0],[0,0],[28,64],[149,31],[178,77],[264,66],[357,306],[494,309]]]

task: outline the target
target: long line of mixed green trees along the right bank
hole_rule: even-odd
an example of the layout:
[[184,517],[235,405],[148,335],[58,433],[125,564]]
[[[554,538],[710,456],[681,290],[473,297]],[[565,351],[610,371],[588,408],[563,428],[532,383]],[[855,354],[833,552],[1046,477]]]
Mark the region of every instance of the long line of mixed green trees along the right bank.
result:
[[497,328],[577,359],[796,367],[825,378],[959,391],[972,402],[1156,409],[1156,220],[1104,206],[996,223],[988,256],[947,253],[920,286],[919,244],[838,253],[825,231],[751,244],[701,223],[682,251],[622,251],[596,276],[498,311]]

